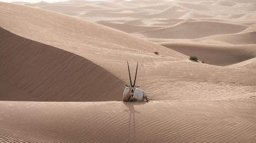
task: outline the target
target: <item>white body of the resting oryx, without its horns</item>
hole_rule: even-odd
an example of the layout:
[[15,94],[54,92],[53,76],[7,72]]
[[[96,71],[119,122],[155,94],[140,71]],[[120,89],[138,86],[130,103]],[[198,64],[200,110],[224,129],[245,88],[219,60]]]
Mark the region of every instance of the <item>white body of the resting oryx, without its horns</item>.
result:
[[141,89],[134,90],[134,96],[131,96],[131,89],[125,87],[123,91],[123,101],[143,101],[146,98],[146,94]]

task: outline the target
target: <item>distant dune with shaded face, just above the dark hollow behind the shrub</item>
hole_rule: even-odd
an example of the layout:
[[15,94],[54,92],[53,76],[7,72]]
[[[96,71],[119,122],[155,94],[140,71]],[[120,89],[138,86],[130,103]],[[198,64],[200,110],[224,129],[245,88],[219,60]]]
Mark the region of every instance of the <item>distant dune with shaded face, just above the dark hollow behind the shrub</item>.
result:
[[232,34],[245,30],[247,26],[211,21],[192,21],[136,35],[147,38],[195,39],[210,35]]

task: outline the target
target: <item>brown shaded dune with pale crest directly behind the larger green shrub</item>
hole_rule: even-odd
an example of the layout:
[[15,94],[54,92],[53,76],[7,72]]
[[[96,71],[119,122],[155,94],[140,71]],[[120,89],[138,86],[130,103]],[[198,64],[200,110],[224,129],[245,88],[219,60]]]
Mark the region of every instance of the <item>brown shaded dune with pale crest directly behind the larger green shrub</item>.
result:
[[[194,55],[208,64],[226,66],[256,57],[253,45],[215,45],[196,43],[159,43],[186,55]],[[216,56],[218,55],[218,56]]]

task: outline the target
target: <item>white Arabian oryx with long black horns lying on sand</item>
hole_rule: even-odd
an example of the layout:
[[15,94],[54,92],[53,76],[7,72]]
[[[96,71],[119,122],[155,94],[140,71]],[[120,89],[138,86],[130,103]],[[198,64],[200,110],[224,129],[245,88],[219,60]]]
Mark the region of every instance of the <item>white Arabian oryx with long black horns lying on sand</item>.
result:
[[132,84],[129,63],[127,61],[129,77],[130,77],[130,85],[125,85],[126,87],[123,91],[123,101],[143,101],[144,98],[145,98],[146,102],[148,102],[145,92],[142,91],[141,89],[138,89],[139,86],[135,85],[137,70],[138,70],[138,63],[139,62],[137,62],[137,68],[136,68],[134,83]]

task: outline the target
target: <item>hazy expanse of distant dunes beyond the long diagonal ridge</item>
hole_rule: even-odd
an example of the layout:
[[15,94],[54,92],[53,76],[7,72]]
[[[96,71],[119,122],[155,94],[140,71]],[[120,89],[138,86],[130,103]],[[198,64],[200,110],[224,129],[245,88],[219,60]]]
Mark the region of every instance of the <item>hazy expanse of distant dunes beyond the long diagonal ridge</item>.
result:
[[[252,59],[255,57],[255,48],[253,48],[256,46],[255,1],[70,1],[17,4],[56,11],[97,22],[146,38],[188,56],[198,56],[201,61],[208,64],[229,66],[249,59],[254,61]],[[165,43],[158,42],[157,39],[160,41],[164,39]],[[190,48],[184,45],[184,43],[191,41],[196,41],[197,46],[205,48],[202,50],[202,48]],[[230,48],[226,48],[224,44],[229,44]],[[174,45],[179,45],[179,47]],[[213,49],[214,53],[212,53],[208,47],[220,47],[228,54],[232,53],[233,49],[244,50],[242,47],[252,47],[253,56],[238,58],[238,56],[232,55],[234,58],[231,58],[222,51],[222,54],[219,54],[220,52],[215,51],[216,48]],[[208,56],[209,54],[211,56]],[[221,57],[219,58],[219,56]],[[222,56],[226,56],[229,61],[224,60]],[[223,63],[222,60],[224,60]],[[256,69],[253,64],[249,67]]]

